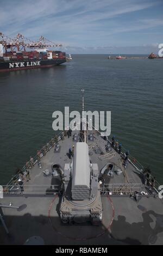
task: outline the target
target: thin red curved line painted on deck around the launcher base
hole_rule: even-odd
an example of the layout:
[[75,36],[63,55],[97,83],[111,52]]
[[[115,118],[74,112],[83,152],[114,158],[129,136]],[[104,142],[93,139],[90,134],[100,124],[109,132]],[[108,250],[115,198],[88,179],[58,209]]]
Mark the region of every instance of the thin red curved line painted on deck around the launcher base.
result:
[[51,204],[50,204],[50,206],[49,206],[49,209],[48,209],[48,218],[49,218],[49,221],[50,221],[51,224],[52,224],[53,229],[54,229],[59,235],[64,236],[64,237],[66,237],[66,238],[68,238],[68,239],[72,239],[72,240],[90,240],[90,239],[95,239],[95,238],[97,238],[97,237],[99,237],[99,236],[101,236],[101,235],[104,235],[104,234],[110,229],[110,227],[111,227],[111,225],[112,225],[112,222],[113,222],[113,220],[114,220],[114,217],[115,217],[115,210],[114,210],[114,205],[113,205],[113,203],[112,203],[112,200],[111,200],[111,198],[108,196],[107,198],[108,198],[108,200],[110,201],[111,206],[112,206],[112,218],[111,218],[111,222],[109,223],[109,225],[108,225],[108,227],[105,229],[105,231],[103,231],[102,233],[99,233],[99,234],[96,235],[96,236],[90,236],[90,237],[87,237],[87,238],[76,238],[76,237],[71,237],[71,236],[67,236],[67,235],[62,234],[60,231],[58,231],[58,230],[54,227],[54,225],[53,225],[53,223],[52,223],[52,220],[51,220],[52,205],[53,205],[53,203],[54,203],[54,201],[55,201],[56,198],[58,198],[57,195],[53,198],[53,200],[52,200],[52,202],[51,202]]

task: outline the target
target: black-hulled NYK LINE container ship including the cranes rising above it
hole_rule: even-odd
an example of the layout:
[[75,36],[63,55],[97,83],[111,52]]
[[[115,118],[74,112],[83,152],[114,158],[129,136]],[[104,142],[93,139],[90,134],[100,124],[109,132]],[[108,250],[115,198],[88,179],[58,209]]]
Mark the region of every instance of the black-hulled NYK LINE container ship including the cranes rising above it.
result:
[[66,53],[48,50],[61,44],[40,37],[31,41],[18,34],[11,39],[0,33],[0,72],[23,69],[48,68],[66,62]]

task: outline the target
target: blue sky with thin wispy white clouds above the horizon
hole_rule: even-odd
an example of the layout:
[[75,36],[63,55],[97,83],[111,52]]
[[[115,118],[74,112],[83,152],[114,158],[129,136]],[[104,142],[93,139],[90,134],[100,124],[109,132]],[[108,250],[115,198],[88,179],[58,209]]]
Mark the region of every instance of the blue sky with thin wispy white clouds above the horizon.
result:
[[163,0],[1,0],[0,31],[43,35],[68,53],[158,53]]

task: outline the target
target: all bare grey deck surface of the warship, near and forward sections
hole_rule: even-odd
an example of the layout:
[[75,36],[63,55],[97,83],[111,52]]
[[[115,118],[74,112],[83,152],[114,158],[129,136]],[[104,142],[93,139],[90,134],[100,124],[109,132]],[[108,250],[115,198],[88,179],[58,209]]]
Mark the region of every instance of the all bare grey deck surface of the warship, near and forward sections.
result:
[[[88,141],[91,151],[90,160],[98,164],[99,172],[106,163],[113,163],[121,169],[121,156],[113,149],[107,159],[95,153],[96,148],[104,149],[106,141],[94,133],[92,142]],[[0,244],[23,244],[31,236],[40,236],[46,245],[80,244],[80,245],[108,245],[108,244],[158,244],[163,242],[163,205],[158,197],[141,197],[136,202],[129,196],[102,197],[103,220],[99,227],[85,224],[62,224],[59,218],[60,196],[47,194],[48,188],[59,184],[60,179],[52,177],[52,164],[59,164],[64,169],[65,163],[72,160],[68,157],[68,150],[76,142],[67,136],[60,140],[59,153],[54,148],[41,158],[42,168],[37,164],[31,169],[30,181],[24,180],[24,194],[7,196],[0,199],[1,204],[21,206],[20,209],[3,208],[5,223],[10,231],[7,236],[0,226]],[[116,169],[115,168],[115,169]],[[43,171],[48,169],[50,174],[45,176]],[[111,184],[141,184],[140,175],[135,167],[129,163],[126,175],[117,175],[109,179]],[[29,191],[30,194],[26,193]],[[35,195],[35,188],[41,193]],[[33,191],[33,193],[32,193]],[[39,191],[40,192],[40,191]],[[44,195],[43,195],[44,194]]]

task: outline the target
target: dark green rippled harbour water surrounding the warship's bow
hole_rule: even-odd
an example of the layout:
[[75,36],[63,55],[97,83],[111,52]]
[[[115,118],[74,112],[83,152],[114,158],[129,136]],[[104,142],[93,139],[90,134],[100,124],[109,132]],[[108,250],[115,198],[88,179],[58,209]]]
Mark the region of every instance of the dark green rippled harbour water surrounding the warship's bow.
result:
[[[47,69],[0,73],[0,184],[54,135],[52,113],[111,111],[111,134],[163,182],[163,59],[73,55]],[[161,183],[162,184],[162,183]]]

